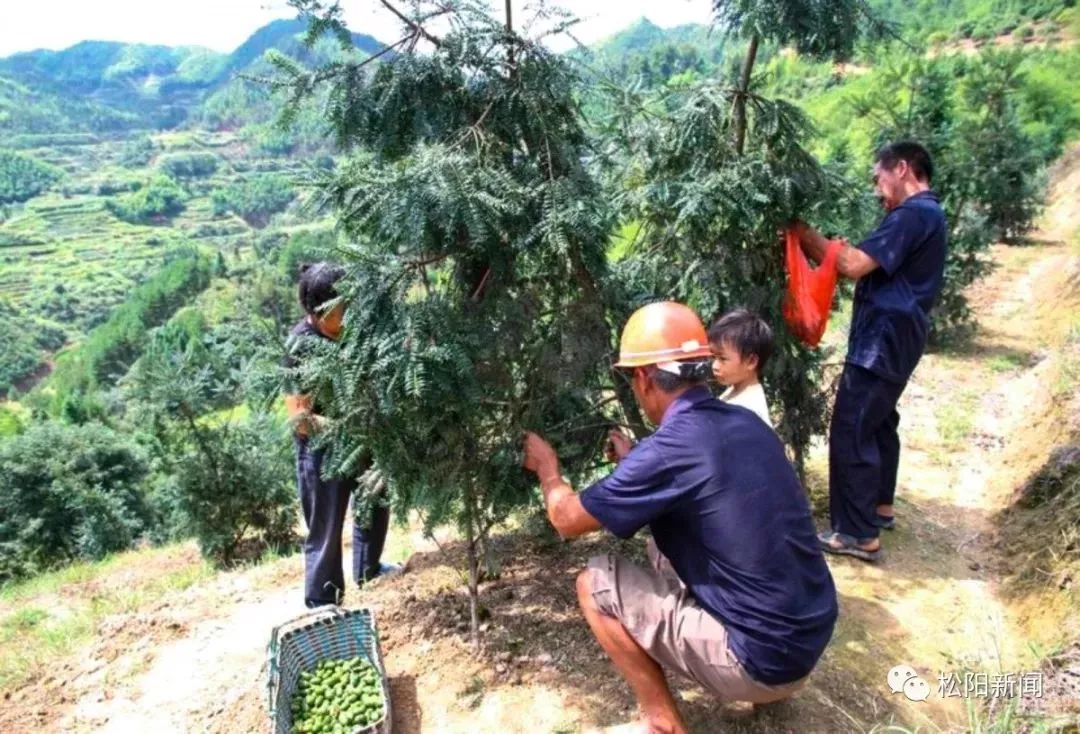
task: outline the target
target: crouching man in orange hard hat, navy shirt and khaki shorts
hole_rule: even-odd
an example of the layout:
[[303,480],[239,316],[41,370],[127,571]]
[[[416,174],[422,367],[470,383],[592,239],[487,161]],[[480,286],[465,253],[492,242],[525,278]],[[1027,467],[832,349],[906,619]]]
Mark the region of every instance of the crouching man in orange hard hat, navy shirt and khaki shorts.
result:
[[780,439],[705,388],[704,326],[651,303],[623,329],[617,367],[656,425],[636,446],[612,434],[616,470],[576,493],[540,436],[526,435],[548,517],[563,538],[648,526],[650,566],[590,559],[578,600],[634,690],[649,732],[681,733],[662,667],[724,701],[768,703],[806,681],[833,634],[836,589],[806,493]]

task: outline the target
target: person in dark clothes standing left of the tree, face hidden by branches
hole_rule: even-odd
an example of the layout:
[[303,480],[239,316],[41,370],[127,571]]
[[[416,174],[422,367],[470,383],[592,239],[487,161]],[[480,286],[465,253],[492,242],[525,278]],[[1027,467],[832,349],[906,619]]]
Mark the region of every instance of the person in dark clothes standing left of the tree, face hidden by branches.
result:
[[[356,489],[351,477],[323,476],[325,452],[313,445],[312,436],[325,422],[329,396],[313,394],[302,384],[300,367],[305,359],[341,334],[345,305],[333,303],[338,294],[335,284],[345,274],[328,262],[305,266],[300,271],[299,297],[305,316],[289,331],[283,366],[286,369],[285,409],[294,424],[296,444],[296,481],[308,535],[303,541],[303,601],[308,607],[336,604],[345,593],[341,568],[341,530],[349,498]],[[357,585],[377,575],[396,570],[382,563],[382,547],[390,525],[390,511],[375,501],[369,518],[353,517],[352,573]]]

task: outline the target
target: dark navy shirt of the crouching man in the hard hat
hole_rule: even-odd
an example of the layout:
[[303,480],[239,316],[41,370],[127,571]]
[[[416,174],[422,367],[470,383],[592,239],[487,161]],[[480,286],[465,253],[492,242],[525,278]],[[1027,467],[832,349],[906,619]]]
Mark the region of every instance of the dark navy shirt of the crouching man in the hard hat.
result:
[[704,388],[581,493],[606,529],[648,525],[657,547],[758,682],[808,675],[836,622],[836,589],[783,445],[746,408]]

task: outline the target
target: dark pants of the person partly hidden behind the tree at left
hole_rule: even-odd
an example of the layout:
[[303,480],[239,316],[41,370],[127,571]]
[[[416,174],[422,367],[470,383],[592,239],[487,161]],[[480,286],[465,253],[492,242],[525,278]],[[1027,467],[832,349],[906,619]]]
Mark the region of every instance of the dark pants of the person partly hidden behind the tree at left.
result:
[[[323,452],[309,448],[306,438],[296,439],[296,484],[303,508],[308,536],[303,540],[303,601],[308,607],[340,603],[345,594],[341,530],[353,479],[324,479]],[[366,526],[366,527],[365,527]],[[390,526],[390,509],[376,503],[367,522],[353,518],[352,574],[356,584],[379,572],[382,546]]]

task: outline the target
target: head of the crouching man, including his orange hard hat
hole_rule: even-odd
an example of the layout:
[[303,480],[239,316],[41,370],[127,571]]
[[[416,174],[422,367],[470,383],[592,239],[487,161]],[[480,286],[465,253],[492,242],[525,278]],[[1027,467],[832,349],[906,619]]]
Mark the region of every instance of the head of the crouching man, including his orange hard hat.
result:
[[646,417],[660,423],[679,394],[708,379],[705,327],[681,303],[662,301],[635,311],[622,330],[616,367],[627,375]]

